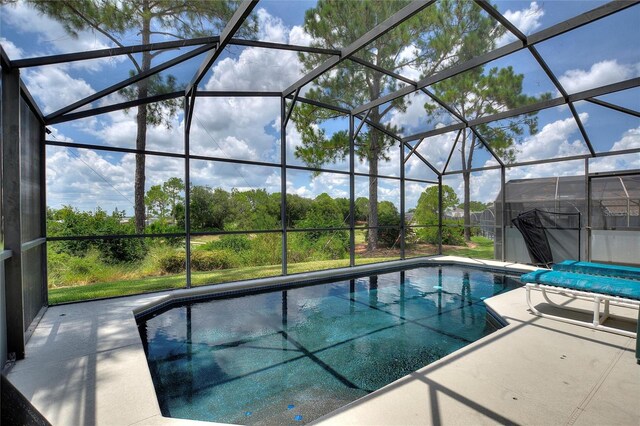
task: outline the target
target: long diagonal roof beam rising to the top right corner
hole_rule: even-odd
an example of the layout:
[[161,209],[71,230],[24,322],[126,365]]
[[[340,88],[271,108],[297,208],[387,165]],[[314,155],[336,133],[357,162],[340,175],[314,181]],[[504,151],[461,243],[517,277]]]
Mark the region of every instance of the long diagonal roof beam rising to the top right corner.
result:
[[[456,66],[453,66],[451,68],[448,68],[446,70],[443,70],[441,72],[438,72],[432,76],[426,77],[422,80],[420,80],[418,82],[417,88],[421,89],[423,87],[427,87],[430,86],[434,83],[437,83],[439,81],[442,81],[444,79],[447,79],[449,77],[453,77],[455,75],[461,74],[465,71],[468,71],[472,68],[475,68],[477,66],[480,65],[484,65],[488,62],[491,62],[493,60],[502,58],[506,55],[509,55],[511,53],[517,52],[519,50],[522,50],[528,46],[533,46],[536,43],[540,43],[543,42],[545,40],[548,40],[552,37],[556,37],[558,35],[564,34],[568,31],[574,30],[576,28],[579,28],[583,25],[586,25],[590,22],[594,22],[598,19],[602,19],[605,18],[609,15],[612,15],[616,12],[619,12],[621,10],[627,9],[631,6],[634,6],[636,4],[638,4],[639,1],[630,1],[630,2],[619,2],[619,1],[612,1],[609,2],[601,7],[598,7],[596,9],[593,9],[589,12],[583,13],[581,15],[578,15],[574,18],[568,19],[564,22],[560,22],[559,24],[556,24],[552,27],[546,28],[542,31],[539,31],[529,37],[526,38],[526,41],[523,40],[518,40],[516,42],[510,43],[506,46],[502,46],[498,49],[495,49],[489,53],[486,53],[484,55],[478,56],[476,58],[473,58],[467,62],[458,64]],[[379,105],[382,105],[384,103],[387,103],[389,101],[392,101],[394,99],[400,98],[402,96],[408,95],[409,93],[413,92],[415,90],[414,87],[405,87],[403,89],[397,90],[393,93],[390,93],[386,96],[383,96],[381,98],[378,98],[376,100],[373,100],[369,103],[366,103],[364,105],[361,105],[357,108],[353,109],[353,114],[359,114],[362,111],[365,111],[369,108],[373,108]]]

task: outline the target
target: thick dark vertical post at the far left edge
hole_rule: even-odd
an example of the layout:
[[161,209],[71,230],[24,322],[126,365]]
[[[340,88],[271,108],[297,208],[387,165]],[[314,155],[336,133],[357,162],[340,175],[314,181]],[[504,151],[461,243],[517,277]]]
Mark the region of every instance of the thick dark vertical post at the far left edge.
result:
[[[25,323],[22,289],[22,227],[20,209],[20,71],[2,68],[2,208],[5,261],[7,353],[24,358]],[[13,355],[11,355],[13,354]]]

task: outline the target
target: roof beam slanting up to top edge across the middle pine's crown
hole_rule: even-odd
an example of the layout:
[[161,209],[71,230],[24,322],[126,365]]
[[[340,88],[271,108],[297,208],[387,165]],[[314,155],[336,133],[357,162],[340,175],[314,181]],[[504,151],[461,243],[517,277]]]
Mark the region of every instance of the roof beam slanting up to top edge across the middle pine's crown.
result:
[[[360,38],[358,38],[356,41],[351,43],[349,46],[341,49],[339,57],[333,57],[333,58],[327,59],[322,64],[317,66],[315,69],[313,69],[311,72],[309,72],[307,75],[305,75],[304,77],[302,77],[301,79],[293,83],[291,86],[287,87],[282,92],[282,95],[287,96],[293,93],[296,89],[299,89],[305,86],[306,84],[312,82],[317,77],[319,77],[320,75],[324,74],[325,72],[333,68],[335,65],[339,64],[340,62],[352,56],[359,49],[362,49],[367,44],[371,43],[372,41],[383,36],[384,34],[388,33],[389,31],[391,31],[392,29],[394,29],[395,27],[403,23],[405,20],[421,12],[424,8],[430,6],[434,1],[435,0],[430,0],[427,2],[413,1],[412,3],[405,6],[400,11],[396,12],[395,14],[387,18],[385,21],[381,22],[376,27],[368,31],[366,34],[362,35]],[[358,113],[361,113],[366,109],[368,108],[365,108],[362,111],[358,111]]]

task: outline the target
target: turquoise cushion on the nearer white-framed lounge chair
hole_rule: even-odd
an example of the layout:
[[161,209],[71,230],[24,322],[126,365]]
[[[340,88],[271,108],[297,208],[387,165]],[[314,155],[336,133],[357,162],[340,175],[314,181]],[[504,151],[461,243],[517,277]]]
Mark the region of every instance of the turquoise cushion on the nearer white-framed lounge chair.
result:
[[541,269],[522,275],[520,281],[640,300],[640,281],[635,280]]

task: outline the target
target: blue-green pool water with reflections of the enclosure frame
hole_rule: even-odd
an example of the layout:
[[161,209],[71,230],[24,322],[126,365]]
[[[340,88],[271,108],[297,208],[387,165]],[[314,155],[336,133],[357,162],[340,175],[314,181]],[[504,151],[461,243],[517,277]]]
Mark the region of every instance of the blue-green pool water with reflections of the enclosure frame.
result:
[[495,331],[521,284],[455,266],[192,302],[139,323],[163,415],[303,424]]

